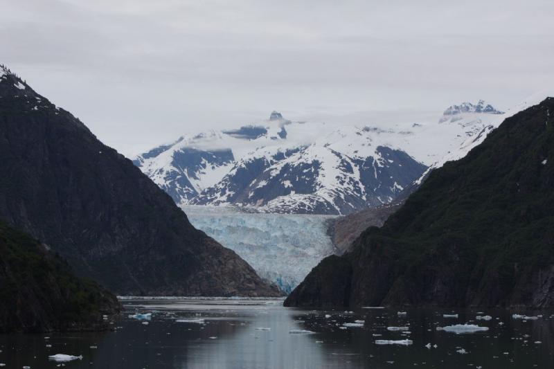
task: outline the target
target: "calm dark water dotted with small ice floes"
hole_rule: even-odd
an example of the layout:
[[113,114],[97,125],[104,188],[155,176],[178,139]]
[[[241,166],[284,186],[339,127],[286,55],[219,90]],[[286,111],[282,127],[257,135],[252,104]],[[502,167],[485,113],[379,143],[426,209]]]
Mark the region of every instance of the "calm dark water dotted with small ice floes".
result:
[[[114,322],[114,332],[0,335],[0,363],[4,368],[57,368],[60,363],[48,361],[48,355],[61,353],[83,357],[65,368],[554,368],[552,312],[417,309],[398,316],[392,309],[350,314],[287,309],[281,303],[124,300],[125,314]],[[145,325],[127,317],[135,312],[152,312],[152,320]],[[443,317],[456,313],[458,318]],[[524,321],[512,318],[514,313],[542,317]],[[485,314],[492,319],[476,320]],[[364,327],[341,329],[355,321],[365,321]],[[457,323],[489,330],[436,330]],[[387,327],[408,327],[410,333]],[[413,344],[377,345],[377,339]]]

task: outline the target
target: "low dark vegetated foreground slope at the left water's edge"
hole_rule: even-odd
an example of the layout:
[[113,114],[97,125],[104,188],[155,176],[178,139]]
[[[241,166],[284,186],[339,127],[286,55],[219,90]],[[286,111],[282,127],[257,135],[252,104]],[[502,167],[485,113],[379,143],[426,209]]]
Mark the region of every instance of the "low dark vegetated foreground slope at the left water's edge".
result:
[[76,278],[69,266],[25,233],[0,222],[0,333],[105,330],[116,296]]

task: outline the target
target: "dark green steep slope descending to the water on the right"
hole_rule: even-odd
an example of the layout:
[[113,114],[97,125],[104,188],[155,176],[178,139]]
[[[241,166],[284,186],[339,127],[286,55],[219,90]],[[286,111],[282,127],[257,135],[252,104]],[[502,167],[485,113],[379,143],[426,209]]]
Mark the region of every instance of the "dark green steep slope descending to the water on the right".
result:
[[[382,228],[368,228],[339,262],[323,260],[285,305],[554,306],[551,111],[547,98],[507,118],[431,172]],[[323,291],[337,278],[340,292]]]

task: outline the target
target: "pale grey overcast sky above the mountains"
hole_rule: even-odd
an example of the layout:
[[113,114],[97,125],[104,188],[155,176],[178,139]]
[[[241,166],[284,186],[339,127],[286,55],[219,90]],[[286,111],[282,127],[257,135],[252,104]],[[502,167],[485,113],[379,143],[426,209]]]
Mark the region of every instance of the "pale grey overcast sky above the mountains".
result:
[[0,63],[127,156],[272,110],[394,123],[554,85],[552,0],[0,0]]

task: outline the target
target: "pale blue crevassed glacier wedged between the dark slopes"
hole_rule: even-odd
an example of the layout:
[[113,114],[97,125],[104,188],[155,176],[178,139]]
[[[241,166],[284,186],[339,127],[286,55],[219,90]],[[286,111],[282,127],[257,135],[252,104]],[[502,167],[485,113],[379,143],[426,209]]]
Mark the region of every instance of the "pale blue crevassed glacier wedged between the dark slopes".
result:
[[334,253],[332,215],[244,213],[232,206],[183,205],[190,223],[238,253],[286,294]]

